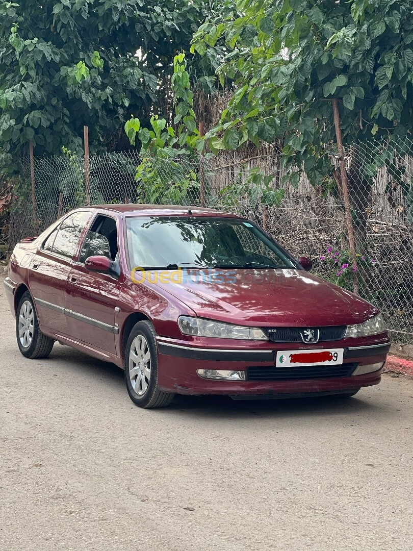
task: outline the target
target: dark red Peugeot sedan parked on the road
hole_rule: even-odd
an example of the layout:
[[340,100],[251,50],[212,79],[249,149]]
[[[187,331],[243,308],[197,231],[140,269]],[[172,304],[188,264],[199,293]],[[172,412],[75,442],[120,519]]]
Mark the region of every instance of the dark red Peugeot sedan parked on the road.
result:
[[235,214],[107,205],[22,240],[4,286],[24,356],[46,358],[58,341],[111,361],[138,406],[377,385],[382,316],[309,268]]

